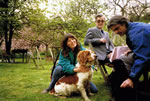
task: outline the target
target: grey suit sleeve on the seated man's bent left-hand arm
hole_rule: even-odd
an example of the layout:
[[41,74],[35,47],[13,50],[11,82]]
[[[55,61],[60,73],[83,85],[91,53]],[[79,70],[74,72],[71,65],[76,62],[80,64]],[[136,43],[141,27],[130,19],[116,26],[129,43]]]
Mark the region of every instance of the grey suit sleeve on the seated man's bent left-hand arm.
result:
[[91,43],[93,46],[103,44],[102,42],[100,42],[100,38],[94,37],[94,32],[92,29],[88,29],[84,40],[84,45],[88,45],[89,43]]

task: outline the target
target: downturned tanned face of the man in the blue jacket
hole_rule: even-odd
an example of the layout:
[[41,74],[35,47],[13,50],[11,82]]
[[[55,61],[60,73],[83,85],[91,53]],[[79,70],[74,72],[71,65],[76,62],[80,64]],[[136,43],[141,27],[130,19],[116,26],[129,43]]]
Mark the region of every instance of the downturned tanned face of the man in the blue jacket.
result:
[[115,32],[116,34],[123,36],[126,34],[127,28],[126,28],[125,24],[122,24],[122,25],[116,24],[111,27],[111,30],[113,32]]

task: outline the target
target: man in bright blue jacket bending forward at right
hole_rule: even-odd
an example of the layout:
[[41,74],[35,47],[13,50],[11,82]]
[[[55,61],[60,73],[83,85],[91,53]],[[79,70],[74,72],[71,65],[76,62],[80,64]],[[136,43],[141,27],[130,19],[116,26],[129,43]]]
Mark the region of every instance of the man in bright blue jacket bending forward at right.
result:
[[133,88],[142,71],[150,65],[150,24],[130,22],[127,18],[116,15],[109,20],[107,27],[120,36],[126,35],[126,43],[134,53],[129,78],[120,86]]

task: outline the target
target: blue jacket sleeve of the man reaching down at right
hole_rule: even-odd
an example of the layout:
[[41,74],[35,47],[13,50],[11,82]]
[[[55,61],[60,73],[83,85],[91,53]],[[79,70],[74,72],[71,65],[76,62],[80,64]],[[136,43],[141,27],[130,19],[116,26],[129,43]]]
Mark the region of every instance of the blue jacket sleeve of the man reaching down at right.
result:
[[130,78],[138,79],[142,70],[146,68],[150,61],[150,31],[144,33],[143,28],[134,30],[133,36],[130,37],[132,41],[132,49],[135,54],[134,64],[131,67]]

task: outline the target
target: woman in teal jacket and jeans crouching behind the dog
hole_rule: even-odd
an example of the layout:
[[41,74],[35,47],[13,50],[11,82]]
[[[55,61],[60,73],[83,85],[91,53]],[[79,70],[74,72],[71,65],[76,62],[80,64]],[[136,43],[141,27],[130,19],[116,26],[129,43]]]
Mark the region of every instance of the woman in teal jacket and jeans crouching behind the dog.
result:
[[[61,52],[59,55],[59,61],[52,74],[50,85],[42,93],[50,92],[55,83],[64,75],[72,75],[76,72],[82,72],[84,70],[75,68],[77,64],[77,54],[80,50],[85,50],[78,42],[77,38],[72,34],[66,34],[61,41]],[[92,93],[97,93],[96,86],[90,82],[90,89]]]

